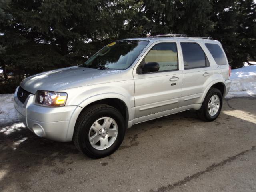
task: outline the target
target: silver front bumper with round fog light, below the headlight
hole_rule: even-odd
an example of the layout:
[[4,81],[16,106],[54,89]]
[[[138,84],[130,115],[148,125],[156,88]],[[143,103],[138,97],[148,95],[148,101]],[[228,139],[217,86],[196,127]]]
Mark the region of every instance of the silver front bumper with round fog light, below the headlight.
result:
[[72,140],[76,119],[83,108],[79,106],[44,107],[34,104],[30,94],[22,103],[14,93],[14,107],[27,128],[39,137],[67,142]]

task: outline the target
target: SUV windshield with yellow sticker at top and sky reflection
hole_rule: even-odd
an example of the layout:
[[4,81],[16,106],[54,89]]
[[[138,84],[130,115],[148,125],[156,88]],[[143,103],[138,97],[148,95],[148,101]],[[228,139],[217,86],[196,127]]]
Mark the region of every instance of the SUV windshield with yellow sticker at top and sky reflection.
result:
[[82,67],[127,69],[147,44],[148,41],[144,40],[122,40],[110,43],[88,59]]

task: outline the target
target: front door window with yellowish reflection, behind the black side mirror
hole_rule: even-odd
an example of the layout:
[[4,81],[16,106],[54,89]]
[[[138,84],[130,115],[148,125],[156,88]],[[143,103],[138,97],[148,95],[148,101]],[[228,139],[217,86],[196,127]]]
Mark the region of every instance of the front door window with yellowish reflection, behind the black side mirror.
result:
[[142,62],[157,62],[159,64],[159,71],[177,70],[178,54],[176,43],[159,43],[154,45]]

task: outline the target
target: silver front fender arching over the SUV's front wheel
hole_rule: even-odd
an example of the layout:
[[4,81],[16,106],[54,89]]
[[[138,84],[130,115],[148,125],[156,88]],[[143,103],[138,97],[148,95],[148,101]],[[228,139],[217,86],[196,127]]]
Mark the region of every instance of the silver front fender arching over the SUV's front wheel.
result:
[[82,109],[98,100],[110,98],[121,100],[124,102],[128,110],[128,121],[134,119],[134,82],[132,80],[118,83],[84,86],[63,91],[68,93],[66,105],[78,106],[78,110],[73,113],[70,119],[67,132],[68,140],[72,140],[75,123]]

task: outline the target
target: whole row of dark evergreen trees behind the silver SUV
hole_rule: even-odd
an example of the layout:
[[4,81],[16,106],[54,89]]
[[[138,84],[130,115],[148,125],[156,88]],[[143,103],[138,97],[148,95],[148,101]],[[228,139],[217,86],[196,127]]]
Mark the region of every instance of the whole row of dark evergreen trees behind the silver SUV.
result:
[[111,41],[147,32],[210,35],[232,68],[256,60],[253,0],[0,0],[0,86],[13,92],[26,76],[81,64]]

